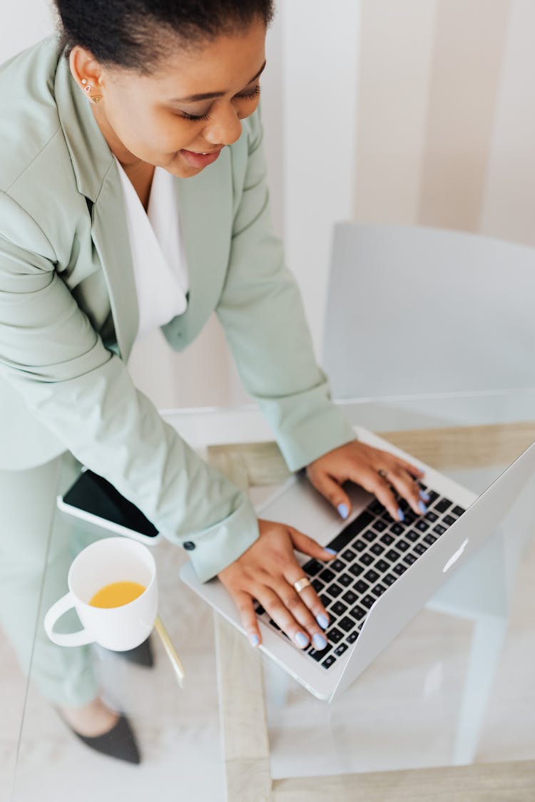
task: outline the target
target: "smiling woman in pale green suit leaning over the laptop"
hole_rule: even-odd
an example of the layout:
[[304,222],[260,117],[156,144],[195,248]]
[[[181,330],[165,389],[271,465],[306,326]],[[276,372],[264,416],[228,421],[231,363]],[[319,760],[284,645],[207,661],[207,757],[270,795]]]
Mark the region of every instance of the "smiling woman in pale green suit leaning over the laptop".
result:
[[[421,472],[359,444],[330,402],[271,233],[257,107],[272,3],[57,7],[62,37],[0,71],[0,525],[16,533],[3,538],[2,593],[19,611],[10,636],[26,662],[55,476],[83,463],[188,549],[202,580],[221,579],[252,646],[257,599],[296,646],[322,649],[328,614],[310,585],[294,588],[303,577],[294,549],[332,554],[257,520],[126,367],[136,337],[161,326],[180,350],[215,310],[289,467],[306,468],[342,518],[346,480],[393,517],[392,488],[425,511]],[[53,543],[43,609],[70,561],[67,535]],[[43,694],[91,747],[138,760],[128,722],[99,699],[87,650],[44,642],[41,620],[38,638]]]

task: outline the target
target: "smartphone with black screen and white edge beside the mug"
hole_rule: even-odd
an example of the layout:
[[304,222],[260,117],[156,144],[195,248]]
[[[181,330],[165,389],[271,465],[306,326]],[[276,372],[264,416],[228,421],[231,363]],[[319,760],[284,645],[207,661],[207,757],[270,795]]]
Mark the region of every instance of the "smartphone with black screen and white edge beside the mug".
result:
[[161,534],[136,504],[128,501],[110,482],[82,468],[79,478],[64,496],[57,496],[58,508],[100,529],[132,537],[145,545],[154,545]]

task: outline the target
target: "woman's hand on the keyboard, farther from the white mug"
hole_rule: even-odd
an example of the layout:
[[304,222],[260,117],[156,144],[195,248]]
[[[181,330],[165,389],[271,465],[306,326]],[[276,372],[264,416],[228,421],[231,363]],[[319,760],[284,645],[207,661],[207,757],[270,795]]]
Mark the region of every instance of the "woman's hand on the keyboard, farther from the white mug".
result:
[[351,502],[341,487],[347,480],[374,493],[395,520],[403,520],[403,513],[391,488],[407,499],[418,515],[427,512],[424,502],[428,496],[420,491],[415,481],[424,476],[424,471],[394,454],[358,440],[318,457],[308,465],[306,475],[314,488],[338,509],[342,518],[347,518],[351,512]]

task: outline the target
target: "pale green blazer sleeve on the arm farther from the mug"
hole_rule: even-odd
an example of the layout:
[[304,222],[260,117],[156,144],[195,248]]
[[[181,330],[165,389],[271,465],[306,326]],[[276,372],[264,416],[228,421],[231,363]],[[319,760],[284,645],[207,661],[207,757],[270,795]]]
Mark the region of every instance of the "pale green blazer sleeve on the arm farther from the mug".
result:
[[217,316],[245,390],[260,405],[286,463],[296,471],[355,439],[355,432],[330,400],[298,286],[271,229],[262,128],[259,115],[253,117]]

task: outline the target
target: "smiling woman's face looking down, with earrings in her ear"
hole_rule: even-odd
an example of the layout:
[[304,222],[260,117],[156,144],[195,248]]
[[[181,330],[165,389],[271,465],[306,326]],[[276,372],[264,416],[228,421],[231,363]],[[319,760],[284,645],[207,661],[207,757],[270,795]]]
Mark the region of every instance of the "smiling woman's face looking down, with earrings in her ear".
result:
[[[71,71],[100,103],[88,101],[111,151],[126,167],[155,164],[188,178],[212,164],[241,134],[258,105],[265,25],[220,36],[162,61],[152,75],[100,65],[81,47]],[[207,154],[203,156],[202,154]]]

